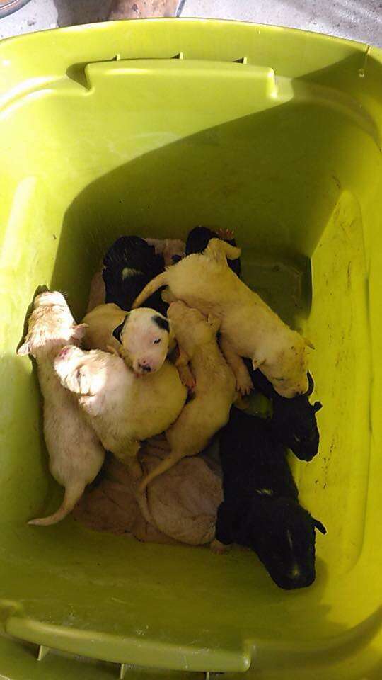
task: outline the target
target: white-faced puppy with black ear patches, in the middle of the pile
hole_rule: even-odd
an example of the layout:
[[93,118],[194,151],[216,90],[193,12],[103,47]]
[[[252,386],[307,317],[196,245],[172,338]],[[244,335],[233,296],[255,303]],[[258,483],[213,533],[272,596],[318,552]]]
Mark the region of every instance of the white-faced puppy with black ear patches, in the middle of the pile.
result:
[[117,305],[100,305],[83,318],[83,346],[120,353],[137,375],[155,373],[175,345],[166,317],[141,307],[124,312]]

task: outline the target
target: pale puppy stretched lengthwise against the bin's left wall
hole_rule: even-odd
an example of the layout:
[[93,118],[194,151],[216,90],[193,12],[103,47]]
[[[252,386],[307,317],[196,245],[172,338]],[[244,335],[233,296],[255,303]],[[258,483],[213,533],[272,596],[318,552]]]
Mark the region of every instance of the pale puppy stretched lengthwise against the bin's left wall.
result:
[[74,508],[86,485],[98,475],[105,451],[76,400],[54,373],[54,358],[68,343],[79,344],[83,326],[76,325],[61,293],[37,295],[28,321],[28,334],[18,355],[31,354],[44,398],[44,436],[50,472],[65,488],[62,506],[48,517],[30,524],[54,524]]

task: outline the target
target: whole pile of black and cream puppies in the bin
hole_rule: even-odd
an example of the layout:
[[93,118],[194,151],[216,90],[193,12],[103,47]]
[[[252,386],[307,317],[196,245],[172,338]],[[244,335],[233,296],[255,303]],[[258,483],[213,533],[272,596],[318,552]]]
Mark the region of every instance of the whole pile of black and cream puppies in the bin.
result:
[[[121,237],[81,324],[61,293],[35,298],[18,354],[37,361],[50,472],[65,493],[57,512],[30,523],[69,514],[105,450],[144,494],[216,435],[224,501],[212,549],[252,548],[282,588],[314,581],[315,531],[325,528],[299,504],[287,462],[288,448],[301,460],[318,453],[311,344],[243,283],[240,254],[231,233],[205,227],[186,244]],[[270,399],[270,419],[245,413],[253,388]],[[161,433],[168,453],[142,477],[141,443]]]

